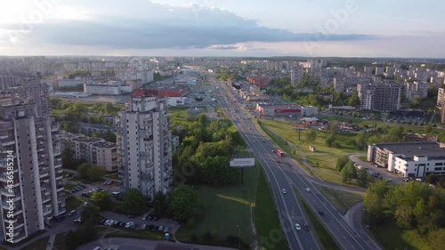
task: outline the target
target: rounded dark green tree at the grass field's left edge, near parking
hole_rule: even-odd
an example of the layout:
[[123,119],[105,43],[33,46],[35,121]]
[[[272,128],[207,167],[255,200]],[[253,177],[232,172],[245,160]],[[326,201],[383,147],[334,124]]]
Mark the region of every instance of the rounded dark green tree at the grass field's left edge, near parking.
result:
[[193,186],[182,185],[172,194],[169,210],[176,220],[187,221],[199,212],[199,194]]

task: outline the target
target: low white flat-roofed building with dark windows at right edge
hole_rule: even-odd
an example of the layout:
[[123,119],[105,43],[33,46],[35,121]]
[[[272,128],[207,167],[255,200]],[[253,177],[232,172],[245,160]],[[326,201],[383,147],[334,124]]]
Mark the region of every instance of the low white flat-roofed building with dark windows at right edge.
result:
[[445,143],[383,143],[368,146],[368,161],[403,177],[445,175]]

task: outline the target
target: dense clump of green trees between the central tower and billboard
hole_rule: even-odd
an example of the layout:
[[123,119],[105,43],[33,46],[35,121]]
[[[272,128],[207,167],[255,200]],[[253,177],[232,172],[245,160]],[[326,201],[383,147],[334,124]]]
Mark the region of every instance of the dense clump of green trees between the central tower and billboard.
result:
[[[178,130],[178,125],[181,129]],[[229,165],[236,147],[245,145],[238,131],[228,120],[209,122],[201,114],[188,122],[174,123],[172,133],[180,137],[181,147],[173,156],[173,165],[179,173],[193,168],[194,174],[186,183],[224,185],[238,183],[239,169]]]

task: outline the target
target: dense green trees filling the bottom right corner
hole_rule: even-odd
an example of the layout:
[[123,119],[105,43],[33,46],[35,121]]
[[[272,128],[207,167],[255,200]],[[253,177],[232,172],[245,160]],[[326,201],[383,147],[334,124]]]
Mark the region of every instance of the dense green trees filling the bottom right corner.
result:
[[433,249],[445,246],[445,191],[441,188],[419,181],[397,186],[376,181],[368,187],[364,207],[375,226],[395,222],[401,229],[414,230]]

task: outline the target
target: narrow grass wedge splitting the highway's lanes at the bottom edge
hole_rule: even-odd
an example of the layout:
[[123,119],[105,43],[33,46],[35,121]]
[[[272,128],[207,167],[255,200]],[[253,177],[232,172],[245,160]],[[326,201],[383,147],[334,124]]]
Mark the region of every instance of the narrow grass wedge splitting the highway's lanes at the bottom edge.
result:
[[336,239],[331,236],[328,230],[325,228],[325,225],[320,222],[319,217],[312,211],[312,208],[307,205],[303,196],[300,192],[292,187],[295,193],[296,198],[303,207],[303,213],[309,218],[310,221],[310,229],[313,231],[315,238],[318,238],[321,247],[324,250],[340,250],[341,248],[337,245]]

